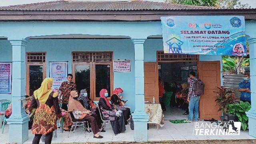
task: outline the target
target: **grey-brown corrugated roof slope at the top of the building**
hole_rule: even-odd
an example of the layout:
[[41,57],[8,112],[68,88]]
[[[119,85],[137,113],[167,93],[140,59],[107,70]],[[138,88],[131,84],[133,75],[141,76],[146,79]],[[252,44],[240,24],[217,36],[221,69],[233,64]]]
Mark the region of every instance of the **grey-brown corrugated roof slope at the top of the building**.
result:
[[72,2],[54,1],[0,7],[1,11],[142,11],[142,10],[216,10],[216,7],[192,6],[149,1]]

